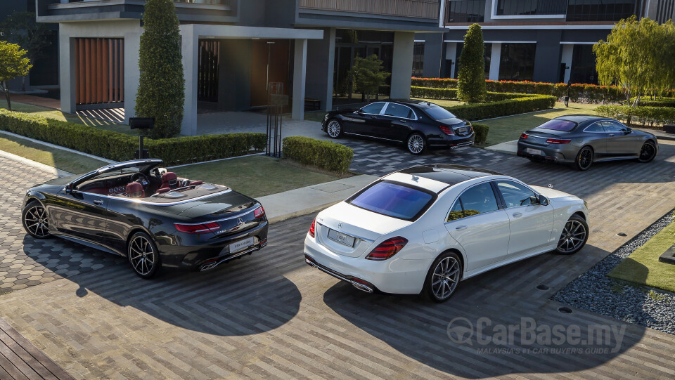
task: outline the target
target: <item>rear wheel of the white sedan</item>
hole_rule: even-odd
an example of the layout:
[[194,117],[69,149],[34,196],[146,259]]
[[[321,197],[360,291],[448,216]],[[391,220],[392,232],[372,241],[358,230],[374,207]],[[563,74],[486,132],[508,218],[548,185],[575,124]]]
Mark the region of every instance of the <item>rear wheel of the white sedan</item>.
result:
[[446,252],[432,263],[424,282],[423,295],[435,302],[450,299],[462,278],[462,262],[454,252]]

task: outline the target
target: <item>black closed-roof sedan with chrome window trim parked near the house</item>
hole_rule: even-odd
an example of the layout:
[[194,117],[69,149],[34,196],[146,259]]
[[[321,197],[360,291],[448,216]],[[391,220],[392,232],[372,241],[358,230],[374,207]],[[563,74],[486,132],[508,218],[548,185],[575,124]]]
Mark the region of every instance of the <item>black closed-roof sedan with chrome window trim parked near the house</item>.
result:
[[359,110],[328,112],[321,129],[331,138],[346,134],[405,143],[413,155],[421,155],[428,147],[473,145],[475,140],[470,122],[421,100],[388,100]]

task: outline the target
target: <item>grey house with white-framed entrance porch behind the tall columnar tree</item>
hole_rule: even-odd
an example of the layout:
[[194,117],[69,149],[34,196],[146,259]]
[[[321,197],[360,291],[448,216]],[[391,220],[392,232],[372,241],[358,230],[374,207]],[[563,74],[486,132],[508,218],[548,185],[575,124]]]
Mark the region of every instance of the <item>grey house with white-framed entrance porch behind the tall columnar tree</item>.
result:
[[[145,1],[36,1],[37,20],[59,26],[62,109],[124,107],[125,119],[133,117]],[[360,101],[346,80],[356,56],[378,55],[391,73],[382,96],[407,98],[416,32],[444,32],[441,0],[174,3],[181,22],[186,135],[198,133],[198,109],[264,107],[269,84],[288,96],[295,119],[304,117],[306,100],[323,110]]]

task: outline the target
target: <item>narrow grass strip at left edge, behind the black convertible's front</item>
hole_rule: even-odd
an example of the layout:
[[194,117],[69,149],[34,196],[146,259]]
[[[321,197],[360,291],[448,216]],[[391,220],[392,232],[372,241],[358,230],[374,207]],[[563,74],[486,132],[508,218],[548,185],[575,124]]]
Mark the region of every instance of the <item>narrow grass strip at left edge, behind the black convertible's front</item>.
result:
[[0,150],[75,174],[86,173],[87,171],[107,165],[106,162],[99,161],[98,159],[78,155],[66,150],[49,148],[23,138],[15,138],[4,134],[0,134]]

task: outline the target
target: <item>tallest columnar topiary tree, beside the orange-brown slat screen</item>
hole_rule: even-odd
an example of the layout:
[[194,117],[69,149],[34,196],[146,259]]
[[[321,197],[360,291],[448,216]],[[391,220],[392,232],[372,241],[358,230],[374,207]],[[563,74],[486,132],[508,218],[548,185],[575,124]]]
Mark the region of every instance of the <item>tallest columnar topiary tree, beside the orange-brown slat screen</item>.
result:
[[155,128],[143,131],[152,138],[168,138],[181,131],[185,101],[182,59],[173,1],[148,0],[143,12],[136,116],[155,117]]

